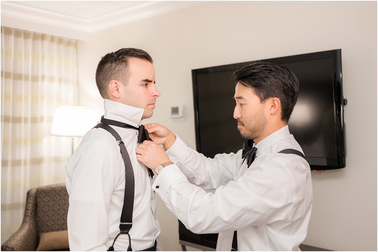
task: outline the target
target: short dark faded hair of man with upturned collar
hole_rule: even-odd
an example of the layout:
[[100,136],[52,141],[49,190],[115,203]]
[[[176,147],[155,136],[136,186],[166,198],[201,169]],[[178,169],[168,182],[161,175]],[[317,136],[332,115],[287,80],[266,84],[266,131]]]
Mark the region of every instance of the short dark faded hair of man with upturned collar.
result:
[[111,80],[121,81],[125,86],[128,81],[129,58],[140,58],[153,64],[151,56],[142,49],[122,48],[109,52],[101,58],[96,69],[96,85],[102,98],[108,98],[108,85]]

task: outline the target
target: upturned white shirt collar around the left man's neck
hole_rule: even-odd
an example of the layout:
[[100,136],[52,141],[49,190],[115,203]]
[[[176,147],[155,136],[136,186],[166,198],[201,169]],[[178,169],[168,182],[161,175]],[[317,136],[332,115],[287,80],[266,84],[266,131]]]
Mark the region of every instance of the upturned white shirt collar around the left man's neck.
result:
[[139,127],[144,109],[135,108],[116,101],[104,99],[104,118],[121,121],[134,127]]

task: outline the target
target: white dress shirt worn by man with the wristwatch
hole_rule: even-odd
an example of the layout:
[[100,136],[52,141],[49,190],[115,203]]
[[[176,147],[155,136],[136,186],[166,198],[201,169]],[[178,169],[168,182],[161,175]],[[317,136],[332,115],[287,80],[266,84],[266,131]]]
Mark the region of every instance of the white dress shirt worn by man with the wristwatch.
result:
[[288,126],[256,148],[247,168],[242,150],[206,158],[177,137],[166,151],[175,164],[163,168],[152,189],[192,232],[219,232],[217,250],[231,250],[234,230],[239,250],[299,250],[312,207],[310,166],[298,155],[277,153],[302,152]]

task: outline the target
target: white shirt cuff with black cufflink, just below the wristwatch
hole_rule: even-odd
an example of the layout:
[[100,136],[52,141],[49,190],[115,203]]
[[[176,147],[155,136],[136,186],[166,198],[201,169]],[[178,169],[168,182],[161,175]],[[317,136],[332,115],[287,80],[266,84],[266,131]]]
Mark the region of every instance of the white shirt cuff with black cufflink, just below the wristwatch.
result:
[[159,194],[160,198],[164,199],[171,184],[177,180],[187,181],[187,178],[183,172],[178,169],[177,165],[170,164],[164,167],[159,175],[156,176],[155,182],[152,184],[151,188]]

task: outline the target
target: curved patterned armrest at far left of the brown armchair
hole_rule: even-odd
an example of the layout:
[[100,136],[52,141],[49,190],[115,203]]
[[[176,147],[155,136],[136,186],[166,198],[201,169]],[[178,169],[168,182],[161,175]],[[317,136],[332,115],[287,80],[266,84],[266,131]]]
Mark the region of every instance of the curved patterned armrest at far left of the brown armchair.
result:
[[37,189],[28,191],[21,227],[1,246],[3,251],[36,251],[39,237],[36,223]]

